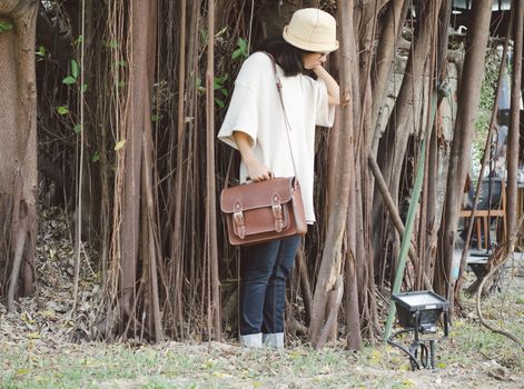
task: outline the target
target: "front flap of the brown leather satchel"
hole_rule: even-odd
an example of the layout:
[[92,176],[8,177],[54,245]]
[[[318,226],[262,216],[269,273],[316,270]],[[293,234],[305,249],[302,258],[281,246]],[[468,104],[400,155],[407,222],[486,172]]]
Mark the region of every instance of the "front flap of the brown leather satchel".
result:
[[243,211],[270,207],[275,196],[280,203],[286,203],[291,199],[296,184],[298,181],[295,177],[279,177],[229,187],[221,191],[220,208],[225,213],[233,213],[235,203],[240,203]]

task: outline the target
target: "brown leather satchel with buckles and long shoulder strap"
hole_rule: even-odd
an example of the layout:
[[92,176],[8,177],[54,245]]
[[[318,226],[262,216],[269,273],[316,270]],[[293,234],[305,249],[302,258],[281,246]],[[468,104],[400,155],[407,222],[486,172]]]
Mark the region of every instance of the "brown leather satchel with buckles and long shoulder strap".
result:
[[[268,53],[267,53],[268,54]],[[287,141],[291,153],[293,168],[296,176],[295,159],[289,140],[291,130],[281,97],[281,82],[277,73],[275,59],[273,70],[280,97],[284,119],[286,122]],[[230,163],[229,163],[230,166]],[[307,232],[306,215],[296,177],[279,177],[270,180],[243,183],[227,187],[220,194],[220,208],[226,217],[227,235],[234,246],[255,245]]]

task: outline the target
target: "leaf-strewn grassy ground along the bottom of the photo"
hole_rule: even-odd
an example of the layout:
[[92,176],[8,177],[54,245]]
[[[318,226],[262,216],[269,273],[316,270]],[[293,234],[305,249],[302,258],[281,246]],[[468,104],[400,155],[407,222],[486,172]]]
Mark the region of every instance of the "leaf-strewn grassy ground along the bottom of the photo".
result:
[[[522,385],[523,350],[479,325],[473,299],[462,302],[469,313],[456,319],[449,337],[437,343],[436,371],[411,371],[407,357],[384,343],[367,345],[360,352],[345,350],[342,341],[319,351],[301,345],[281,351],[248,350],[231,343],[73,345],[31,327],[0,331],[0,387],[404,389]],[[524,342],[522,291],[494,295],[482,306],[486,319]]]

